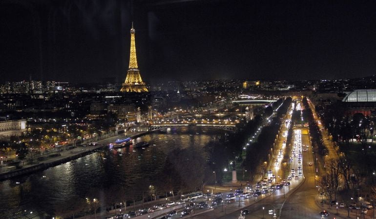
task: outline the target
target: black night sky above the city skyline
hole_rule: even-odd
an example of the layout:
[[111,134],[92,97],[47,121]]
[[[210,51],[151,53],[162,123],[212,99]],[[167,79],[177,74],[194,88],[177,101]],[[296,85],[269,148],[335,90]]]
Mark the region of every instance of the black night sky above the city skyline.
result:
[[2,0],[0,82],[146,82],[376,72],[376,1]]

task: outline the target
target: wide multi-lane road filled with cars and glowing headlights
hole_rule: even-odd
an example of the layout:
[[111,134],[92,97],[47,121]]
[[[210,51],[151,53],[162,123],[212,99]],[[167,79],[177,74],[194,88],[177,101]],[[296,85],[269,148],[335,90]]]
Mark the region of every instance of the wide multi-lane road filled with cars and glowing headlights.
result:
[[[317,120],[318,118],[314,110],[313,114]],[[347,216],[347,214],[333,215],[333,212],[336,210],[335,207],[328,209],[327,205],[325,207],[320,205],[319,188],[316,187],[316,180],[318,178],[316,173],[317,162],[312,151],[308,128],[294,127],[291,150],[287,151],[285,149],[286,145],[284,141],[286,141],[288,134],[288,126],[285,126],[285,122],[288,122],[289,125],[290,119],[291,115],[288,114],[283,120],[280,135],[273,149],[273,158],[268,163],[267,173],[264,175],[268,179],[274,175],[275,178],[272,183],[280,183],[284,177],[292,176],[291,180],[286,181],[291,183],[290,186],[285,185],[282,189],[263,194],[257,198],[236,198],[233,203],[224,202],[224,205],[220,204],[207,213],[191,215],[190,218],[235,219],[240,216],[240,211],[244,209],[250,211],[250,214],[245,215],[245,219],[320,219],[321,215],[319,212],[322,210],[330,210],[331,215],[326,217],[327,219],[333,219],[333,217],[344,218]],[[325,137],[327,136],[324,134]],[[331,157],[335,157],[335,149],[333,146],[329,147]],[[285,156],[285,153],[288,153],[289,156]],[[291,158],[291,164],[282,164],[284,157]],[[293,172],[292,168],[294,169]],[[272,173],[269,173],[269,170],[272,170]],[[298,179],[295,179],[294,176],[298,176]],[[268,184],[269,190],[272,183]],[[253,186],[254,189],[255,185]],[[230,191],[223,192],[224,198],[228,193]]]

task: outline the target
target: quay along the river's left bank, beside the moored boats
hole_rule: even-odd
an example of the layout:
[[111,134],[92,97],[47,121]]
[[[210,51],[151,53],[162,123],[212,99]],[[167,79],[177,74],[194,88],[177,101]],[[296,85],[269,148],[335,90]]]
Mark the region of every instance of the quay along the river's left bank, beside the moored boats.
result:
[[[127,135],[130,138],[137,138],[149,133],[148,131],[134,132]],[[98,141],[96,146],[77,146],[77,147],[66,147],[57,151],[55,153],[49,154],[48,156],[43,156],[42,159],[36,160],[35,162],[23,164],[21,167],[15,165],[2,166],[0,172],[0,181],[11,179],[13,177],[18,177],[22,175],[32,174],[37,171],[45,170],[52,166],[57,166],[64,164],[66,162],[84,157],[88,154],[97,152],[107,144],[114,142],[118,138],[123,138],[125,135],[115,135],[109,138],[105,138]]]

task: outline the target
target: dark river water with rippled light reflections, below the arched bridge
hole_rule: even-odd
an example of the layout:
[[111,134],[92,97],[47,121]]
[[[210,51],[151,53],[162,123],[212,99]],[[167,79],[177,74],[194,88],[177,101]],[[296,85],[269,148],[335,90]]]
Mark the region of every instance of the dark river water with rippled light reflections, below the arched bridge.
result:
[[54,206],[74,195],[84,198],[92,189],[114,184],[131,187],[144,179],[155,179],[174,148],[188,148],[206,158],[204,146],[223,134],[198,127],[171,128],[137,139],[150,143],[146,149],[106,148],[33,175],[0,182],[0,218],[24,211],[38,217],[53,215]]

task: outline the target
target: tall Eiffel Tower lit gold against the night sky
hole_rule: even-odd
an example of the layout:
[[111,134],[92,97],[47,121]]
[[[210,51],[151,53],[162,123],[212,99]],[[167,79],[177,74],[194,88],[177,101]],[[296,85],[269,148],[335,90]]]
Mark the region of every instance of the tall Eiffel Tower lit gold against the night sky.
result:
[[129,69],[126,74],[125,82],[122,84],[122,89],[120,89],[121,92],[147,92],[145,82],[142,81],[140,70],[138,70],[134,32],[132,22],[132,28],[130,29]]

